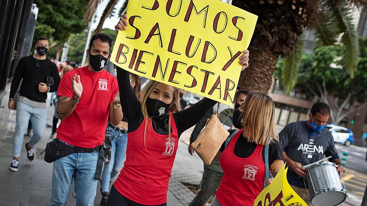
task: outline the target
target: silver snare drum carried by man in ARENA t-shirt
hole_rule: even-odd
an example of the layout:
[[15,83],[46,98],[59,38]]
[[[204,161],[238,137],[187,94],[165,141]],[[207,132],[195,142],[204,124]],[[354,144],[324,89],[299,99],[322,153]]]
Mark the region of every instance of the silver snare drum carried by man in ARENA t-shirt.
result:
[[305,177],[312,205],[339,205],[348,196],[340,180],[337,165],[333,162],[320,162],[310,166]]

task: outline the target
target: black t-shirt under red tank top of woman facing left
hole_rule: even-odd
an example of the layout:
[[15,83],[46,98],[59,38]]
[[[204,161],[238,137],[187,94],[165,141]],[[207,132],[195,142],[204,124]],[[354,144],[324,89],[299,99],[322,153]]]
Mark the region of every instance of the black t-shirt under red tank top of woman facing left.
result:
[[[235,131],[236,130],[233,129],[229,130],[228,132],[232,134]],[[247,138],[243,136],[243,133],[241,133],[236,141],[235,149],[233,150],[233,152],[239,158],[247,158],[250,157],[252,153],[254,153],[256,146],[256,143],[248,142]],[[219,151],[223,152],[225,149],[224,147],[225,142],[222,144]],[[284,160],[283,150],[281,149],[279,142],[273,139],[269,144],[269,167],[277,159]],[[265,162],[265,147],[262,148],[262,160]]]

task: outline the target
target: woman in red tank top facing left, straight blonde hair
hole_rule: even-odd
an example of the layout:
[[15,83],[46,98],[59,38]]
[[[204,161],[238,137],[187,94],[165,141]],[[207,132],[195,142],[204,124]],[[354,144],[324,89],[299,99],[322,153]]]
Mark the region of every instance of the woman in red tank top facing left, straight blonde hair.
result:
[[[221,158],[224,176],[212,206],[253,206],[264,188],[265,173],[269,174],[266,160],[273,177],[284,165],[274,124],[273,100],[268,95],[250,92],[240,109],[242,113],[236,109],[237,114],[233,114],[233,123],[242,129],[229,131],[229,139],[214,158]],[[267,179],[266,184],[271,181]]]

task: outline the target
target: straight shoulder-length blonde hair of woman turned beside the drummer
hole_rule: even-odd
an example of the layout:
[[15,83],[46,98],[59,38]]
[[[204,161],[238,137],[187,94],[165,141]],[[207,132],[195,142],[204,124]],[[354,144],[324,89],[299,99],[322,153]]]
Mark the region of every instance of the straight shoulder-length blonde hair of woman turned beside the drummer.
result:
[[275,104],[268,95],[250,92],[241,114],[242,127],[248,127],[248,141],[267,145],[270,137],[279,140],[275,128]]

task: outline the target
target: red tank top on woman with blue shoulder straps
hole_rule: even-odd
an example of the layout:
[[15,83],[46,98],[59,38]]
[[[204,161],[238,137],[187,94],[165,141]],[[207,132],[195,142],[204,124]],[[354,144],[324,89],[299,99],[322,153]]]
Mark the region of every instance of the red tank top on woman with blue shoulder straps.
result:
[[236,133],[221,156],[223,178],[217,191],[217,199],[223,206],[253,206],[264,187],[265,164],[262,160],[262,145],[247,158],[233,153],[242,129]]

